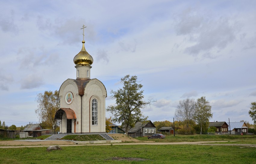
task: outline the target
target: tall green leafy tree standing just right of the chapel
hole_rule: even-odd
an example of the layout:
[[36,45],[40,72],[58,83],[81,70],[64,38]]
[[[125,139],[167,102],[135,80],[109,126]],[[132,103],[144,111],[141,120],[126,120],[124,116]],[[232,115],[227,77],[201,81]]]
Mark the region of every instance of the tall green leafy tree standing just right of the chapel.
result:
[[116,100],[116,105],[108,106],[107,111],[112,114],[112,121],[122,123],[128,135],[128,131],[134,127],[136,121],[145,121],[148,118],[142,114],[141,109],[155,100],[143,100],[142,84],[138,84],[137,76],[126,75],[121,78],[120,83],[123,88],[110,92],[113,94],[111,98]]

